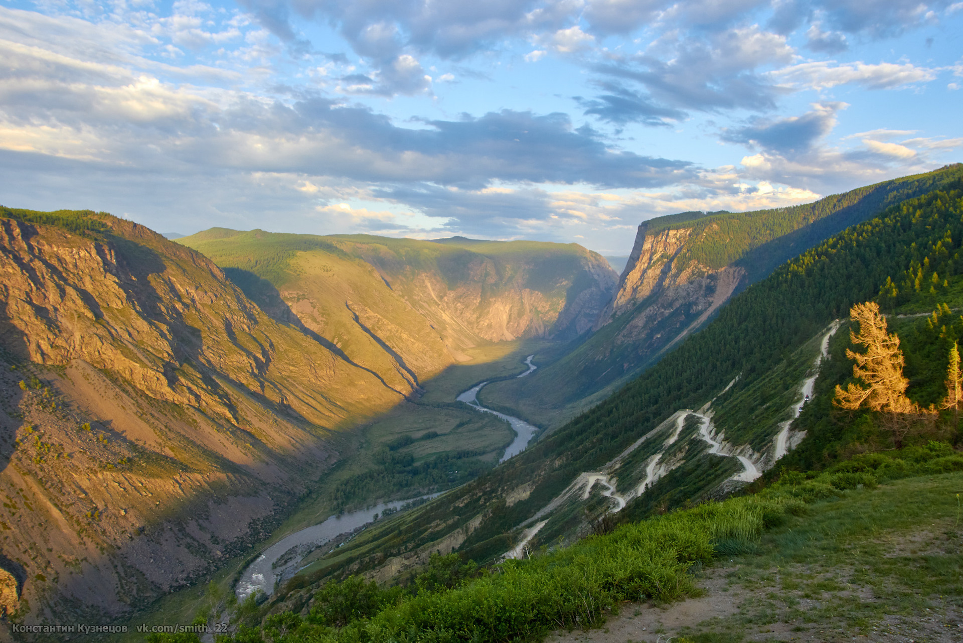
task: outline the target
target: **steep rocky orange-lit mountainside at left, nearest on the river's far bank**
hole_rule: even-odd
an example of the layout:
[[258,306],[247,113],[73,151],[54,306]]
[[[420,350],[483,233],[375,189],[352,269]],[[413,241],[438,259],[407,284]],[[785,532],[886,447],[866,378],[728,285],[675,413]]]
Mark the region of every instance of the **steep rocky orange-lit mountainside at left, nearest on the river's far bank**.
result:
[[204,256],[102,220],[0,219],[9,611],[118,614],[209,571],[331,464],[325,435],[403,399]]

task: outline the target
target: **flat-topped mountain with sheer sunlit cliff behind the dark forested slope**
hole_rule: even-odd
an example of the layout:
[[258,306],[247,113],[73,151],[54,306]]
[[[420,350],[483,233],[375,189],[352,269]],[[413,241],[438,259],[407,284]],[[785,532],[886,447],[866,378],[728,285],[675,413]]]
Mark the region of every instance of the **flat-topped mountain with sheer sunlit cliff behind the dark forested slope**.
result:
[[803,205],[683,212],[643,222],[617,292],[593,333],[521,386],[495,383],[482,398],[559,426],[638,377],[702,328],[734,294],[779,264],[961,174],[963,165],[956,164]]

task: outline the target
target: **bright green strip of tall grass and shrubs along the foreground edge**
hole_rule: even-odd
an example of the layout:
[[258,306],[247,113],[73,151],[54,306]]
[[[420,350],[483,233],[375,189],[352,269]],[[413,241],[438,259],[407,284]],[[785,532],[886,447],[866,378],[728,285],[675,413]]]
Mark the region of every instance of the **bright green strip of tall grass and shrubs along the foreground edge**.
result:
[[623,601],[664,602],[694,593],[693,566],[710,562],[716,553],[755,547],[772,517],[800,504],[794,498],[758,496],[706,503],[623,524],[610,534],[534,558],[508,560],[452,589],[396,595],[401,598],[371,618],[341,629],[325,626],[316,604],[305,618],[274,614],[263,629],[242,628],[221,642],[481,642],[590,627]]

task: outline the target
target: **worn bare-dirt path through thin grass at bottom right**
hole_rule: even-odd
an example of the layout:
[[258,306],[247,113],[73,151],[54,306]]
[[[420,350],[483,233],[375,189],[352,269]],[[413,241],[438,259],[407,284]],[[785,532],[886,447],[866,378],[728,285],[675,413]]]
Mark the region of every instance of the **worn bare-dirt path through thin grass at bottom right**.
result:
[[[817,566],[814,566],[814,568]],[[963,610],[940,600],[931,607],[889,609],[870,586],[839,584],[851,570],[839,568],[814,574],[808,565],[794,565],[775,574],[739,563],[720,563],[705,571],[699,598],[655,605],[624,603],[617,616],[596,630],[558,630],[546,643],[668,643],[686,636],[713,643],[749,641],[860,641],[872,643],[959,643],[963,641]],[[827,589],[787,590],[786,580],[814,578]],[[810,598],[807,598],[810,597]],[[941,597],[942,598],[942,597]],[[878,611],[862,627],[847,624],[842,605],[863,603]],[[886,613],[897,612],[897,613]],[[701,634],[701,636],[699,636]]]

